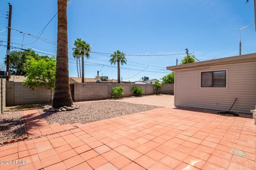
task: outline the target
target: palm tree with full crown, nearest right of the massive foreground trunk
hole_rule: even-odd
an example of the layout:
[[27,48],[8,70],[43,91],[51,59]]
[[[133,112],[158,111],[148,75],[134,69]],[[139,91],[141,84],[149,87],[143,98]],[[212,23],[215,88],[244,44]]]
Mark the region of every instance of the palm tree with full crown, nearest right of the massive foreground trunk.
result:
[[75,49],[79,53],[79,56],[82,57],[82,83],[84,83],[84,55],[88,59],[91,53],[91,46],[89,43],[86,43],[81,38],[77,38],[74,43]]

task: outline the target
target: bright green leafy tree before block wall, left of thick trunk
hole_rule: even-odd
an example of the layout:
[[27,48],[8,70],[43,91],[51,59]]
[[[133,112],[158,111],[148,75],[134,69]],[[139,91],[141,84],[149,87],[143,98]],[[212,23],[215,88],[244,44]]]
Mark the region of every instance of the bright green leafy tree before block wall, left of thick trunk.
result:
[[55,57],[42,58],[40,60],[35,60],[33,57],[28,57],[25,65],[24,71],[26,72],[26,80],[23,82],[30,89],[39,86],[45,86],[47,89],[51,90],[52,102],[52,90],[54,88],[55,82],[55,70],[56,70],[56,60]]

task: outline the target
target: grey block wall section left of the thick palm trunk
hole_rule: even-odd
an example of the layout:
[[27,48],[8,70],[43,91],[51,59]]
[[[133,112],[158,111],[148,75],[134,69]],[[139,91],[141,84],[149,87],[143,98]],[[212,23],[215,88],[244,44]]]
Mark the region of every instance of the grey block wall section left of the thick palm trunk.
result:
[[6,106],[49,103],[51,91],[44,86],[29,89],[22,82],[6,82]]

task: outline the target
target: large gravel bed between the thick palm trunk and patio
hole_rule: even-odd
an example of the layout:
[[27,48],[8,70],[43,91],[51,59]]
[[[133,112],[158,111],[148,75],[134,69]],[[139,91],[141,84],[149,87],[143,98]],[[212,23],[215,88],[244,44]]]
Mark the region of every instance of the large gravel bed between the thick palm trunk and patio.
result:
[[118,101],[97,101],[90,103],[80,103],[80,108],[68,112],[43,112],[38,109],[41,116],[50,123],[73,124],[73,123],[89,123],[100,121],[107,118],[128,115],[138,112],[149,111],[157,106],[137,105]]

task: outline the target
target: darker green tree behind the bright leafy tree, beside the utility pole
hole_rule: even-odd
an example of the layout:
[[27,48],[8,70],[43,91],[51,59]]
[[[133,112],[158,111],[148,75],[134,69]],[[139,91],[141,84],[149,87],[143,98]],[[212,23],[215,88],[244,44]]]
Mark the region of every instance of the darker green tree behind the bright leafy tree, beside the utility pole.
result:
[[[28,51],[12,51],[10,54],[10,71],[12,75],[25,75],[24,66],[29,57],[33,57],[35,60],[40,60],[41,58],[47,58],[48,56],[40,56],[36,54],[33,50],[28,49]],[[4,63],[6,65],[6,57],[4,58]]]

